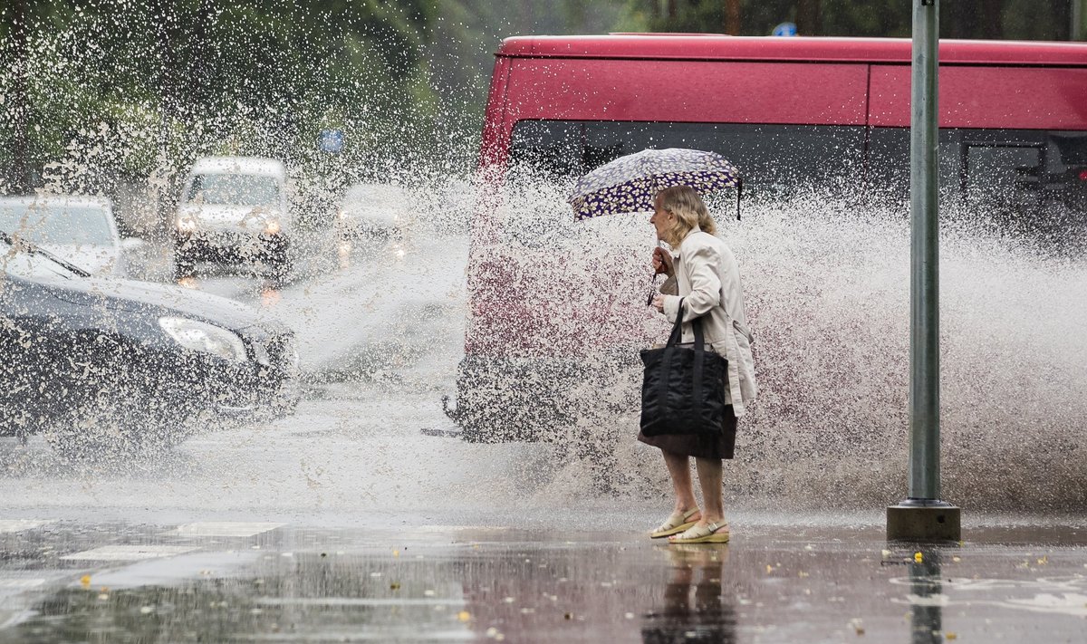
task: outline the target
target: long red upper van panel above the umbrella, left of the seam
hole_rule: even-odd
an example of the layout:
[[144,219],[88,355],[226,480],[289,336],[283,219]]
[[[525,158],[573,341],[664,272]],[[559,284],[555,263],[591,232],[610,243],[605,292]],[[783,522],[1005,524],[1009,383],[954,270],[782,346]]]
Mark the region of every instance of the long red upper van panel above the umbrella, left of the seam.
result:
[[515,59],[505,131],[523,119],[863,125],[867,65]]

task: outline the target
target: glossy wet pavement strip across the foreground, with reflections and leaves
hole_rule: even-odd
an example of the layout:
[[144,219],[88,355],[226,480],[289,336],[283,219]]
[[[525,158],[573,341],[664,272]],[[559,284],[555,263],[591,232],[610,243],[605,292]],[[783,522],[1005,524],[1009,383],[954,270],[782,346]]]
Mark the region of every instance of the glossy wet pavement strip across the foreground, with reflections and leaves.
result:
[[[0,523],[0,642],[1008,642],[1087,633],[1078,545]],[[975,530],[975,536],[985,537]],[[888,549],[890,548],[890,549]]]

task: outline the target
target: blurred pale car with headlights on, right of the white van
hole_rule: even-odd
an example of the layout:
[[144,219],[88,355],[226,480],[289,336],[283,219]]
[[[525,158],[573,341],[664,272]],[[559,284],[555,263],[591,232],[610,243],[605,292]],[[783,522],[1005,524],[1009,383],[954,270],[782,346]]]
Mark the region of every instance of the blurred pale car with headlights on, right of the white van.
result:
[[355,184],[347,189],[336,211],[341,242],[385,242],[403,233],[412,218],[411,195],[393,184]]

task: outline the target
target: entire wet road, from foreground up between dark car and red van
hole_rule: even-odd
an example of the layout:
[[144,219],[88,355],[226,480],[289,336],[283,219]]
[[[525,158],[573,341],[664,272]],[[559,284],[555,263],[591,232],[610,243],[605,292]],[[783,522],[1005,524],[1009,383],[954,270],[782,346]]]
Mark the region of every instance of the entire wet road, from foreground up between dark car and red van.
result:
[[424,239],[187,283],[298,330],[292,418],[121,461],[0,438],[0,644],[1087,640],[1078,517],[963,503],[967,541],[917,549],[878,507],[746,497],[728,546],[667,546],[640,532],[665,481],[633,439],[611,469],[642,485],[600,494],[553,447],[422,434],[450,426],[465,257]]

